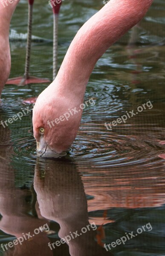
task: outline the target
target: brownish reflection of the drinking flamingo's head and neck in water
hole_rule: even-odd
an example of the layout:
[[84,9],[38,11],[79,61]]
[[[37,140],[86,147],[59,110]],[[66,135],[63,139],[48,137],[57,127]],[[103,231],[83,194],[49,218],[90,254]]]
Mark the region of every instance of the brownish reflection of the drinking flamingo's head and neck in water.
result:
[[[87,199],[74,163],[68,160],[45,160],[38,163],[34,188],[41,215],[60,224],[60,238],[75,231],[82,234],[81,229],[89,225]],[[96,243],[94,230],[96,228],[91,225],[90,231],[69,241],[71,256],[107,255]]]

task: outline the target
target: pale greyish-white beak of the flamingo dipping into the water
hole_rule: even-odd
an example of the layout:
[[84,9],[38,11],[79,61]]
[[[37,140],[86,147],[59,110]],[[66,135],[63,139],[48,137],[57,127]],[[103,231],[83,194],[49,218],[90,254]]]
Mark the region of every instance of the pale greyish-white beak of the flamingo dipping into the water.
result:
[[37,142],[37,155],[40,157],[63,157],[66,156],[66,152],[63,153],[57,153],[54,150],[52,150],[43,140],[43,137],[41,137],[41,140]]

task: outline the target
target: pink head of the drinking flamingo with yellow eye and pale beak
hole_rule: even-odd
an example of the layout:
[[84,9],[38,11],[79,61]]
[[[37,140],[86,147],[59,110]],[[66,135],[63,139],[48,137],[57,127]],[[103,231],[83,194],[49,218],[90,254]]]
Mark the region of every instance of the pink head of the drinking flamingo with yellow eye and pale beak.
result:
[[82,110],[74,113],[73,100],[53,93],[51,85],[38,97],[33,108],[33,131],[37,154],[42,157],[60,157],[78,132]]

